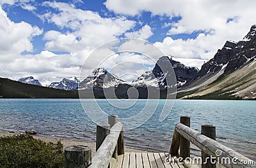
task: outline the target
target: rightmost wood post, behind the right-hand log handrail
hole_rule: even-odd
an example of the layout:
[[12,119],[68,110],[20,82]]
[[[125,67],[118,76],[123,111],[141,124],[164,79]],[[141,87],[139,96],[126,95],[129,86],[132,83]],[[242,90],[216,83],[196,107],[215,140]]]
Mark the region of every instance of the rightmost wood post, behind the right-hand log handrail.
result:
[[[202,125],[201,134],[216,140],[216,127],[214,125]],[[202,151],[202,168],[216,168],[216,164],[212,164],[209,158],[209,155]]]

